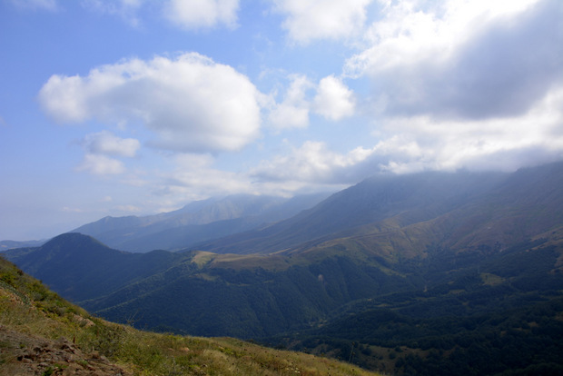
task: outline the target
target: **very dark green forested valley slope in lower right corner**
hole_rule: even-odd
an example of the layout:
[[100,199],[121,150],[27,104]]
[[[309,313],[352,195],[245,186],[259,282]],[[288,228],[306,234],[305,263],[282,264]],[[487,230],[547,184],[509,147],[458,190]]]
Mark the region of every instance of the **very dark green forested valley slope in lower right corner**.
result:
[[[462,256],[443,249],[411,262],[424,290],[352,302],[320,327],[264,341],[404,375],[558,375],[563,372],[563,273],[556,247],[518,244]],[[400,288],[400,286],[397,286]]]

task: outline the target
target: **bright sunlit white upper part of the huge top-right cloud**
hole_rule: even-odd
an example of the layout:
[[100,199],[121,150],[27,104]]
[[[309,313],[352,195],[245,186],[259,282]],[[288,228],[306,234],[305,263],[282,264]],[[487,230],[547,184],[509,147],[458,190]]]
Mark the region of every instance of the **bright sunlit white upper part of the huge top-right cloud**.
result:
[[395,66],[441,63],[490,25],[505,24],[538,0],[381,1],[381,19],[364,38],[368,49],[347,63],[350,74],[388,71]]

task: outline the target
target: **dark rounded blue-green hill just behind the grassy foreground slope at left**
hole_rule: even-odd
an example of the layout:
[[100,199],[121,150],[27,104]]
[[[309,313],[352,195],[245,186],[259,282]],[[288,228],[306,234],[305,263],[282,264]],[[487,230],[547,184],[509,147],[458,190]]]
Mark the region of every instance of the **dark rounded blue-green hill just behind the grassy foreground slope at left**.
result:
[[64,233],[40,247],[10,250],[5,257],[73,302],[114,292],[183,258],[162,251],[121,252],[81,233]]

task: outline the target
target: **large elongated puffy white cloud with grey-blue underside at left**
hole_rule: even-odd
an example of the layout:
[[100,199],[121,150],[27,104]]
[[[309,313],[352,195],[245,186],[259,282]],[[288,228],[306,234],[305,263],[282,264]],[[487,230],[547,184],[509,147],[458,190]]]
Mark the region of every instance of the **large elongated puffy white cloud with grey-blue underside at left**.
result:
[[201,54],[124,60],[86,76],[55,74],[39,93],[59,123],[146,125],[153,146],[182,152],[240,150],[260,131],[262,94],[231,66]]

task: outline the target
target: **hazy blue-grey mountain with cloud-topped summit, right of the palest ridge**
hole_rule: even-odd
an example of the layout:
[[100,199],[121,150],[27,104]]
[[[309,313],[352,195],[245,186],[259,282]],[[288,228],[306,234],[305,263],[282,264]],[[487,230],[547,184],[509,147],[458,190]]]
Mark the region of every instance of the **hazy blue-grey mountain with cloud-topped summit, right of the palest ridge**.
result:
[[302,242],[334,238],[397,215],[401,225],[436,218],[469,203],[504,182],[504,173],[380,174],[334,193],[327,200],[280,223],[198,244],[211,252],[282,251]]

